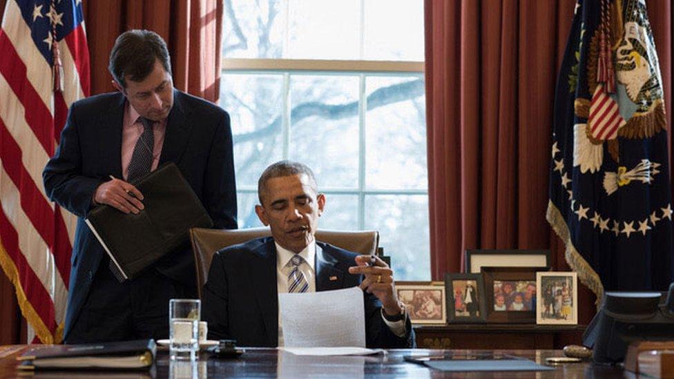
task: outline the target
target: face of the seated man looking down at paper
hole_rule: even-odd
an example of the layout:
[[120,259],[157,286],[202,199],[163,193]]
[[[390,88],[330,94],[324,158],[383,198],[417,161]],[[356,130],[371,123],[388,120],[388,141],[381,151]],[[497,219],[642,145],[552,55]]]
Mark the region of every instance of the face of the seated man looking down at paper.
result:
[[305,174],[273,177],[262,191],[262,205],[255,207],[260,221],[280,246],[299,253],[314,240],[325,195],[316,193]]

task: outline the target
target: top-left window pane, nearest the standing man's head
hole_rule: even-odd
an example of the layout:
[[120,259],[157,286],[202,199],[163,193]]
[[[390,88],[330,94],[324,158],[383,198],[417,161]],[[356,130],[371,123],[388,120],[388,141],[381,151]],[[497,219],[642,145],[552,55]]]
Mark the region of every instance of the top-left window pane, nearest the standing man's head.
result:
[[285,1],[225,0],[222,56],[280,58],[285,38]]

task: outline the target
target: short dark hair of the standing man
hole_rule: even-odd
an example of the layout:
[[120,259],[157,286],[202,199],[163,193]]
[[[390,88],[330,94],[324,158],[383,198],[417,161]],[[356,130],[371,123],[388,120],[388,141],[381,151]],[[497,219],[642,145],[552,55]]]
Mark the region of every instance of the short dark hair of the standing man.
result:
[[152,72],[155,61],[159,60],[164,70],[171,74],[171,57],[166,42],[151,30],[128,30],[115,41],[110,51],[108,70],[115,81],[126,88],[124,77],[142,81]]

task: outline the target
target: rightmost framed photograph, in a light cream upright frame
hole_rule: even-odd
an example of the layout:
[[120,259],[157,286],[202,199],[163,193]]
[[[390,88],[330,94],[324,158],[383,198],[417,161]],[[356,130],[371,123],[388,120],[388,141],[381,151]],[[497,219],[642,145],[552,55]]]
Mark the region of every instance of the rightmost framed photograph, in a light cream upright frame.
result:
[[578,323],[578,284],[575,272],[536,274],[536,291],[541,301],[536,308],[537,324]]

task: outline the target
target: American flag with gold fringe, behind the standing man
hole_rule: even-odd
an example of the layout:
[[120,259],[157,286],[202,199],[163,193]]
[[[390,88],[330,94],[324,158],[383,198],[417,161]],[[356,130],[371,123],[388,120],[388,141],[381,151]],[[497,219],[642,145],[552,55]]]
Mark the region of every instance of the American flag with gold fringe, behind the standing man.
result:
[[0,264],[36,340],[62,340],[76,219],[42,169],[73,101],[89,95],[81,0],[8,0],[0,29]]

